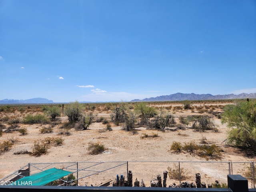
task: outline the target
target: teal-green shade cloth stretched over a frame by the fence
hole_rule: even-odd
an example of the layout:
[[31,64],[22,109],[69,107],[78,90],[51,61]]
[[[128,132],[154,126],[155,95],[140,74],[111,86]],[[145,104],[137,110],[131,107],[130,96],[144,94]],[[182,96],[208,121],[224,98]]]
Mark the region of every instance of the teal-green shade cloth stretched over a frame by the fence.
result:
[[36,173],[31,176],[21,178],[14,182],[14,185],[35,185],[43,186],[59,178],[62,178],[72,172],[64,171],[62,169],[48,169],[40,173]]

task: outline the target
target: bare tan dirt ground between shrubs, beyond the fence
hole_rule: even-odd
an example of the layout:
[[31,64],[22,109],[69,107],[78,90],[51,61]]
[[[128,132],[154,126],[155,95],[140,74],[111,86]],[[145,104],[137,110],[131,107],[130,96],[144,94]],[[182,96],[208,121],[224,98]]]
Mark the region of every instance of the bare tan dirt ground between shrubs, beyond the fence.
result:
[[[202,105],[202,104],[198,104]],[[211,104],[206,104],[211,105]],[[214,103],[216,105],[216,103]],[[218,104],[219,106],[225,104]],[[166,105],[166,106],[170,106]],[[196,115],[197,110],[169,110],[176,117],[187,115]],[[157,107],[160,107],[158,105]],[[216,108],[214,111],[221,112],[223,109]],[[111,111],[94,111],[97,116],[110,118]],[[203,114],[208,114],[207,112]],[[6,114],[0,114],[1,117]],[[8,114],[9,116],[20,115],[19,112]],[[23,114],[24,115],[24,114]],[[202,114],[200,114],[202,115]],[[209,115],[209,114],[208,114]],[[218,159],[209,158],[208,161],[232,161],[232,162],[249,162],[255,161],[255,156],[247,156],[246,152],[236,148],[227,146],[225,139],[227,138],[227,130],[225,124],[221,124],[220,119],[213,116],[215,124],[218,126],[218,132],[211,130],[205,132],[195,131],[191,128],[185,130],[166,130],[165,132],[158,130],[148,130],[144,127],[136,128],[137,133],[127,132],[122,126],[111,124],[112,131],[102,131],[106,128],[106,124],[94,122],[88,130],[70,130],[70,135],[60,135],[61,123],[67,122],[66,116],[59,118],[59,124],[54,126],[52,133],[42,134],[40,128],[47,125],[40,124],[20,124],[20,127],[28,129],[28,134],[21,135],[19,132],[4,133],[0,137],[0,143],[16,138],[16,142],[7,152],[0,154],[0,178],[8,176],[12,172],[18,170],[22,166],[36,162],[84,162],[84,161],[206,161],[206,158],[191,154],[189,152],[174,153],[170,150],[172,142],[190,142],[201,143],[202,138],[206,138],[209,144],[216,144],[223,150],[222,156]],[[192,124],[189,125],[191,127]],[[9,125],[6,124],[8,127]],[[144,134],[158,134],[155,138],[142,138]],[[15,155],[14,152],[28,150],[32,151],[35,141],[44,140],[46,137],[62,137],[64,142],[61,146],[51,146],[48,152],[41,156],[31,156],[30,154]],[[102,154],[92,155],[88,153],[89,142],[100,142],[104,144],[107,150]],[[212,169],[214,170],[214,168]],[[210,170],[210,172],[213,172]],[[161,170],[160,173],[162,173]],[[211,173],[209,173],[211,174]],[[139,178],[138,178],[139,179]],[[134,179],[135,180],[135,179]],[[95,183],[95,181],[94,181]]]

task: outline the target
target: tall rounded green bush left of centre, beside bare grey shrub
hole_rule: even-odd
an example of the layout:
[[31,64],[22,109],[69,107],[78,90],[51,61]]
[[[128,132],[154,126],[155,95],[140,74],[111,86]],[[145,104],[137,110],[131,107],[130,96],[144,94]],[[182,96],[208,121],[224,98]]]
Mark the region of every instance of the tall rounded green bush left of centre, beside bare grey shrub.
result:
[[64,113],[68,116],[70,123],[77,122],[81,117],[81,105],[78,101],[66,105]]

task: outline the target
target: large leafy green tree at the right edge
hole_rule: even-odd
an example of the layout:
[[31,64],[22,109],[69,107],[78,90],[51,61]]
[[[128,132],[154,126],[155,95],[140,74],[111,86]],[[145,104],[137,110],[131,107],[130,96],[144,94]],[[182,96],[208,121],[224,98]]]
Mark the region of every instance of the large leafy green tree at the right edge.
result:
[[227,123],[228,143],[256,151],[256,100],[226,105],[222,123]]

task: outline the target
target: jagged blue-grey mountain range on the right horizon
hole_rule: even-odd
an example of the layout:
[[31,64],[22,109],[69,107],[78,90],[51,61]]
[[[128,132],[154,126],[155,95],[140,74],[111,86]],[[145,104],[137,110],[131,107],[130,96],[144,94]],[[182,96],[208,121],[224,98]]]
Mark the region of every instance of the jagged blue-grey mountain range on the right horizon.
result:
[[140,102],[140,101],[184,101],[184,100],[218,100],[218,99],[246,99],[246,98],[256,98],[256,93],[242,93],[239,95],[228,94],[228,95],[211,95],[211,94],[184,94],[184,93],[175,93],[164,96],[157,96],[152,98],[145,98],[142,100],[135,99],[131,102]]

